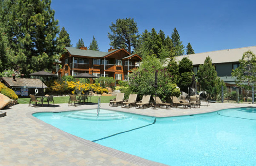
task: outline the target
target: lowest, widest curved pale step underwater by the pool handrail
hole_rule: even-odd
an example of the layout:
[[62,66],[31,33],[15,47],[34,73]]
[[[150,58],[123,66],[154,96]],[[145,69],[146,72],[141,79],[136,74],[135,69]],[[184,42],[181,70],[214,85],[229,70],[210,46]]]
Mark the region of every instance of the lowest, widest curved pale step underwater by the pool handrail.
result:
[[128,116],[107,116],[107,117],[101,117],[96,118],[96,114],[94,116],[85,116],[85,115],[76,115],[76,114],[66,114],[63,115],[64,117],[69,117],[69,118],[76,118],[76,119],[83,119],[83,120],[121,120],[121,119],[128,119],[131,117]]

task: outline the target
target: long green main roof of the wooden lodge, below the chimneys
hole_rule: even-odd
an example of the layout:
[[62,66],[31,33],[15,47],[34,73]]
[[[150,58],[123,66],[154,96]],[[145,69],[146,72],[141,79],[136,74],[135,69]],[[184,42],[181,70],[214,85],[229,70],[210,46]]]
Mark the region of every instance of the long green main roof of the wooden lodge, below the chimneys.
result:
[[110,51],[110,52],[102,52],[102,51],[92,51],[92,50],[82,50],[82,49],[78,49],[78,48],[75,48],[75,47],[65,47],[68,52],[71,54],[71,55],[79,55],[79,56],[86,56],[86,57],[97,57],[97,58],[100,58],[100,57],[104,57],[108,54],[111,54],[119,49],[116,49],[116,50],[113,50],[113,51]]

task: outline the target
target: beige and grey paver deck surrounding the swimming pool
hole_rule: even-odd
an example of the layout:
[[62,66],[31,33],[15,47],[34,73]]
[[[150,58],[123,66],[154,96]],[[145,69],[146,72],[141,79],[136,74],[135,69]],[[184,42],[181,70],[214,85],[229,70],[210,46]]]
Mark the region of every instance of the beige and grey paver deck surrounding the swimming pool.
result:
[[[236,107],[255,107],[255,105],[210,103],[209,107],[192,109],[178,107],[170,110],[164,108],[142,110],[133,107],[129,109],[121,106],[109,107],[108,103],[101,104],[103,109],[153,117],[200,114]],[[77,107],[57,104],[55,107],[44,105],[36,108],[28,107],[28,104],[17,104],[10,109],[2,110],[6,111],[7,116],[0,118],[0,165],[164,165],[84,140],[32,116],[34,112],[96,108],[96,104]]]

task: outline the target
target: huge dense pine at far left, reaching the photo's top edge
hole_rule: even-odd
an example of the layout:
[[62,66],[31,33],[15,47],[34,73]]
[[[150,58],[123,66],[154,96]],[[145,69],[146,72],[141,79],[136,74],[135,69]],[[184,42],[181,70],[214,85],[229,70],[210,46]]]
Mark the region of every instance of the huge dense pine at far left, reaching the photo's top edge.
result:
[[12,67],[28,75],[51,70],[57,58],[55,11],[49,0],[12,0],[3,2],[1,22],[12,52]]

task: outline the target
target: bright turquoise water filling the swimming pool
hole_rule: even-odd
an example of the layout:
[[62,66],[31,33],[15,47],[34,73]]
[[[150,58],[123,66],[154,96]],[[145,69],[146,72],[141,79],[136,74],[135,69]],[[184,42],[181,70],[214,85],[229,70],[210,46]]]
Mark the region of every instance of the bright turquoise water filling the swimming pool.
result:
[[78,137],[168,165],[256,165],[255,108],[169,118],[101,109],[96,119],[96,112],[33,116]]

